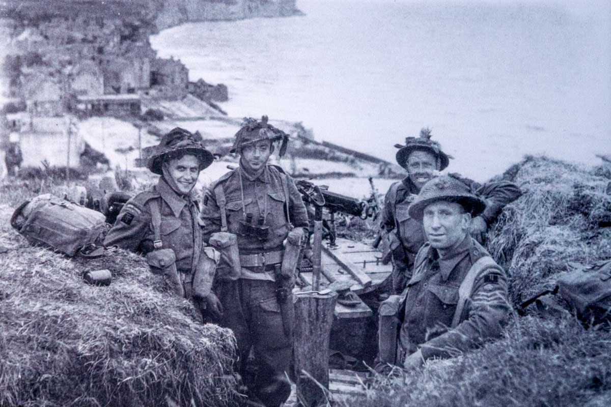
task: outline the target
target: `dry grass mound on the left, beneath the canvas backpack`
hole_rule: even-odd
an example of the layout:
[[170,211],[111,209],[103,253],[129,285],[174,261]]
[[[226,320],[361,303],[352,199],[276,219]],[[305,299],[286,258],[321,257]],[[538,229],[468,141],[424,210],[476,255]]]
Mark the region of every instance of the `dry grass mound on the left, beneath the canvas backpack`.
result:
[[[233,404],[229,330],[202,325],[135,254],[86,261],[32,247],[11,212],[0,206],[0,406]],[[85,284],[99,268],[112,284]]]

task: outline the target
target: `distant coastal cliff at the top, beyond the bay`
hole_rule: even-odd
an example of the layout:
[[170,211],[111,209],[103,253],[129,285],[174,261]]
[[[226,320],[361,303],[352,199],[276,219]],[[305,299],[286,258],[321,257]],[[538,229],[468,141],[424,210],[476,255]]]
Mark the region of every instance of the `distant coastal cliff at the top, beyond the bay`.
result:
[[171,0],[160,3],[155,18],[159,30],[193,21],[301,14],[296,0]]

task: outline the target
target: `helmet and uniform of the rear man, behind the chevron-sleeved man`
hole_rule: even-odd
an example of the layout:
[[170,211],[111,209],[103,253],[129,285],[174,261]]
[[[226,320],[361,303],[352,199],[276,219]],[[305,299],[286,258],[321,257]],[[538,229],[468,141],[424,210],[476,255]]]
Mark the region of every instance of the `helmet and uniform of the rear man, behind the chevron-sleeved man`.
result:
[[[425,129],[423,129],[424,131]],[[409,154],[417,149],[430,151],[437,157],[439,170],[444,170],[449,164],[449,156],[441,150],[439,143],[430,140],[430,134],[420,137],[408,137],[406,145],[401,146],[397,152],[397,162],[406,167]],[[457,175],[452,175],[457,177]],[[480,187],[477,182],[470,179],[459,178],[475,192],[476,195],[486,198],[486,210],[481,214],[486,225],[491,225],[502,211],[503,207],[522,195],[518,185],[508,181],[490,182]],[[397,239],[391,244],[392,250],[392,286],[393,293],[400,293],[406,282],[411,278],[414,259],[420,247],[426,242],[422,222],[409,217],[409,205],[420,193],[419,187],[408,177],[390,185],[384,198],[381,226],[386,232],[394,233]],[[482,243],[481,236],[478,240]],[[399,244],[400,243],[400,244]]]

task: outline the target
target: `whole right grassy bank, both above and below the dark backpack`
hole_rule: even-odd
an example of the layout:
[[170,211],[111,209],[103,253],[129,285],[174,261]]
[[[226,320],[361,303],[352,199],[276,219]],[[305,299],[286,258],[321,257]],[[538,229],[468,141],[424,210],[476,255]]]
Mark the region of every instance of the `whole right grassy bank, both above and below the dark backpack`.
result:
[[[602,175],[602,176],[599,176]],[[503,175],[525,195],[491,231],[493,256],[510,272],[517,303],[566,272],[567,262],[611,258],[609,171],[527,157]],[[395,380],[378,377],[346,406],[609,406],[611,340],[573,317],[516,317],[502,339],[429,362]]]

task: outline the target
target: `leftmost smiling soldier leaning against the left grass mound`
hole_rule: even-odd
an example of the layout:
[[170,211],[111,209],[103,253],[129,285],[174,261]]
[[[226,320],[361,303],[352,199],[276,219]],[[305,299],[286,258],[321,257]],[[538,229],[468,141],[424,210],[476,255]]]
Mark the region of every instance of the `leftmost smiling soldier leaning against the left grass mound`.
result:
[[203,247],[192,192],[200,171],[212,161],[199,135],[181,128],[164,135],[147,162],[161,175],[159,181],[123,206],[104,245],[144,254],[152,271],[166,275],[178,295],[193,298],[204,313],[219,315],[221,304],[211,292],[214,255]]

